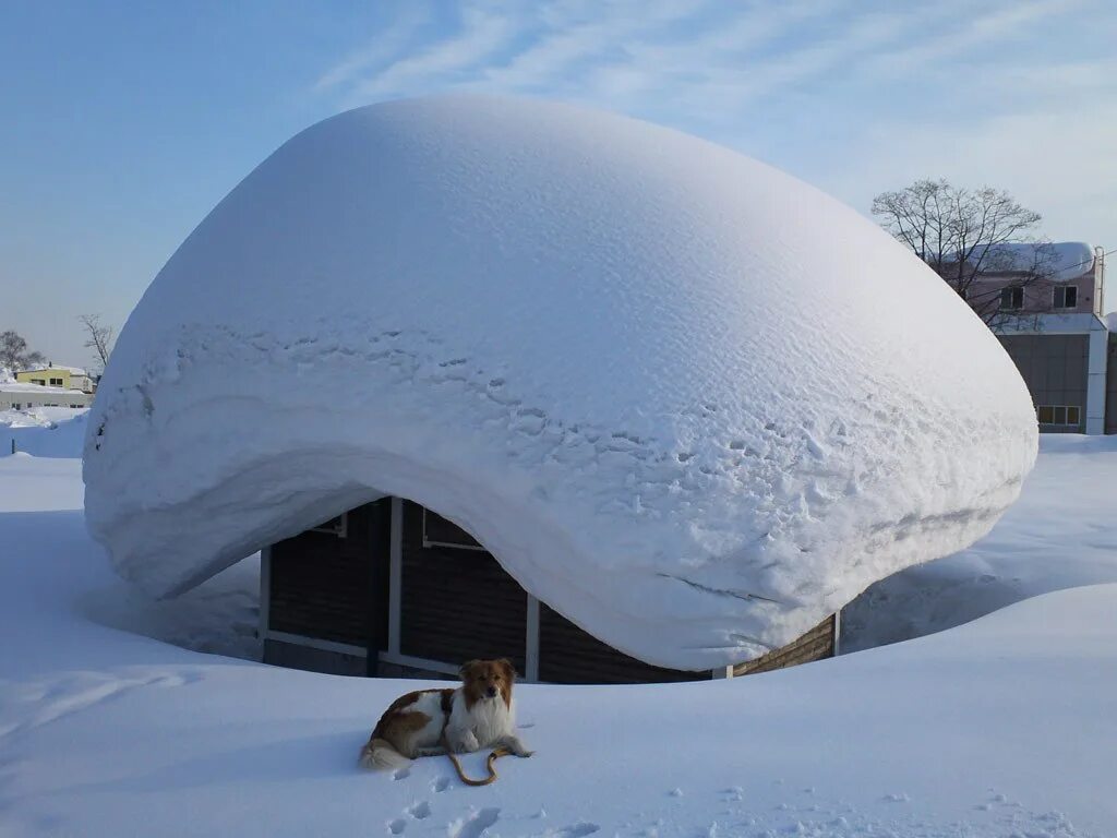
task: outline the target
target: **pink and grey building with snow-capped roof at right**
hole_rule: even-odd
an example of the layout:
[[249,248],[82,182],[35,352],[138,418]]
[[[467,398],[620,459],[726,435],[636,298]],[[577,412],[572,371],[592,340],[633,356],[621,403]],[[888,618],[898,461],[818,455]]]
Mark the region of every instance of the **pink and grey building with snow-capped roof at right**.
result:
[[[1065,241],[1003,250],[1010,258],[975,279],[968,296],[999,298],[1008,316],[994,331],[1028,384],[1040,430],[1117,432],[1117,335],[1105,316],[1104,249]],[[1037,263],[1042,279],[1028,277]]]

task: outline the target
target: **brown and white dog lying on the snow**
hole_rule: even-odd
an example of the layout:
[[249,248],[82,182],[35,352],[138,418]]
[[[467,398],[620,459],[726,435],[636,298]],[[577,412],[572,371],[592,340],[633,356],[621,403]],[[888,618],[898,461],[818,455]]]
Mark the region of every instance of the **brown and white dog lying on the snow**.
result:
[[361,765],[398,769],[447,749],[465,753],[504,746],[517,756],[531,756],[516,735],[512,663],[470,660],[458,674],[461,686],[456,689],[419,689],[392,702],[361,749]]

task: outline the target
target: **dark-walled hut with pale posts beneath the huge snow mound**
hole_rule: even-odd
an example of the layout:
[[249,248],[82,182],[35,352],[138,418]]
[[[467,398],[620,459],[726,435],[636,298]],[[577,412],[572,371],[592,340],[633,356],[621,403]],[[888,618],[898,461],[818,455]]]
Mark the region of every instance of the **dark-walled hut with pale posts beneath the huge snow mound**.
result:
[[[706,673],[619,651],[529,596],[469,533],[385,497],[262,551],[264,661],[336,675],[445,677],[508,657],[526,680],[695,680],[831,657],[840,617],[768,654]],[[462,630],[468,627],[468,630]]]

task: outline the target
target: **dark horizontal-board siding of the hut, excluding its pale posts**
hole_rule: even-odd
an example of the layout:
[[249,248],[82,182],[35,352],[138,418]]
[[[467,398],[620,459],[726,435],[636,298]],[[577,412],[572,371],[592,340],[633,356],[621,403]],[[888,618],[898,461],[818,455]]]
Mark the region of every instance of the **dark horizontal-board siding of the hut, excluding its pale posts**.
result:
[[[367,648],[367,674],[375,675],[378,653],[388,647],[390,518],[385,498],[351,511],[344,537],[308,531],[275,544],[269,629]],[[427,512],[426,545],[423,533],[423,508],[404,501],[400,651],[447,664],[507,657],[523,674],[526,591],[451,522]],[[735,667],[734,674],[830,657],[833,630],[830,617],[794,642]],[[708,677],[629,657],[540,603],[543,682],[634,684]]]

